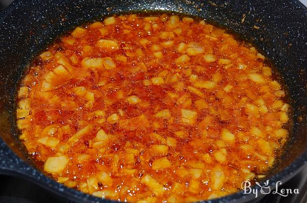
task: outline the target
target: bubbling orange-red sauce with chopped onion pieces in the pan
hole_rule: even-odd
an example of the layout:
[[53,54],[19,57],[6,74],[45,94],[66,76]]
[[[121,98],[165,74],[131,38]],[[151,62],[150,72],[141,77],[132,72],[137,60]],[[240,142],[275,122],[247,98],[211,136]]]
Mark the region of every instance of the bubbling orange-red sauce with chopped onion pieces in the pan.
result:
[[29,153],[55,180],[129,202],[211,199],[258,180],[288,139],[265,57],[205,21],[106,18],[43,52],[18,91]]

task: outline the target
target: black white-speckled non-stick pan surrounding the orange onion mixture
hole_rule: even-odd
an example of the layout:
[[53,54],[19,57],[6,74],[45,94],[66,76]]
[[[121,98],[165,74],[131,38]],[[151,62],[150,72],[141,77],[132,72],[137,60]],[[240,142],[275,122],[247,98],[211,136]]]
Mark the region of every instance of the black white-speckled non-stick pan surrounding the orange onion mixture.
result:
[[[58,35],[83,22],[130,11],[199,16],[254,43],[279,70],[293,106],[292,139],[268,175],[271,189],[300,170],[307,162],[307,8],[298,1],[19,0],[0,13],[0,173],[24,177],[76,202],[112,202],[58,184],[35,167],[18,140],[14,98],[26,66]],[[256,200],[239,191],[208,202]]]

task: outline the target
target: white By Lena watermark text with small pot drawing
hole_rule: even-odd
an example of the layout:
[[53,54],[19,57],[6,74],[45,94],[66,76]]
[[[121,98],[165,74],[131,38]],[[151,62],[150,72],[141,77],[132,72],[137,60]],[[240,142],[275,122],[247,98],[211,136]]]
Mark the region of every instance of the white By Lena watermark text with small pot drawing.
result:
[[[271,193],[271,187],[269,186],[269,180],[267,180],[263,185],[261,185],[260,183],[258,182],[255,182],[255,184],[257,186],[260,187],[260,191],[259,188],[251,188],[251,182],[249,181],[244,181],[242,184],[241,184],[241,188],[243,189],[243,194],[254,194],[255,195],[255,198],[258,197],[258,193],[261,193],[261,194],[269,194]],[[284,197],[287,197],[289,194],[299,194],[299,191],[298,189],[280,189],[278,187],[280,187],[281,185],[281,181],[277,181],[276,184],[275,184],[275,190],[272,192],[273,194],[279,194],[281,196],[284,196]]]

